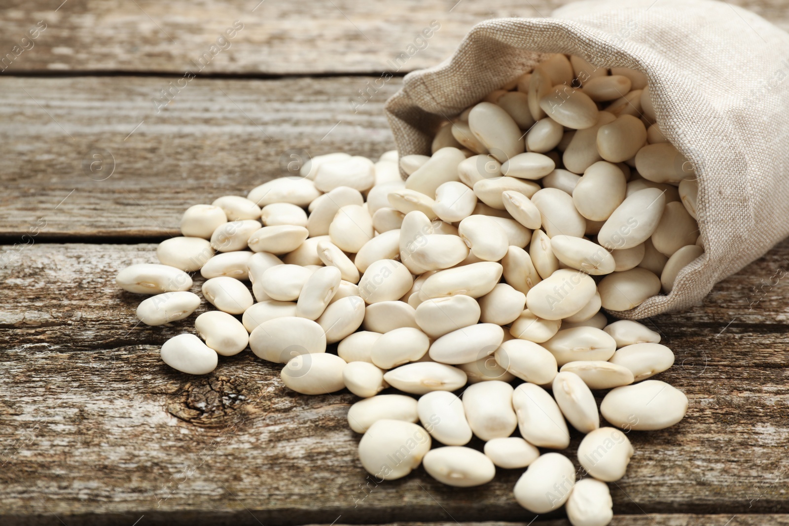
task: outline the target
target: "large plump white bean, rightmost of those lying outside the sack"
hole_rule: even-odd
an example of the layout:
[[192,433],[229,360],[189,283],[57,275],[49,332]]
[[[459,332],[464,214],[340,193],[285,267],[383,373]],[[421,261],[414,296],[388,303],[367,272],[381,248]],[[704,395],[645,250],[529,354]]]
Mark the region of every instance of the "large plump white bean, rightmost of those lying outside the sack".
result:
[[605,420],[636,431],[671,427],[682,420],[687,408],[685,394],[660,380],[616,387],[605,395],[600,404]]

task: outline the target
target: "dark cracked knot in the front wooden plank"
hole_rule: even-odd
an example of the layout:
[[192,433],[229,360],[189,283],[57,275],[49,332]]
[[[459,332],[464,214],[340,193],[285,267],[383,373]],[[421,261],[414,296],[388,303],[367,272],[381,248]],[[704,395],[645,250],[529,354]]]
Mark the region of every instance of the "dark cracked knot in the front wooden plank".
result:
[[171,415],[200,427],[224,427],[259,397],[255,382],[207,376],[187,382],[167,403]]

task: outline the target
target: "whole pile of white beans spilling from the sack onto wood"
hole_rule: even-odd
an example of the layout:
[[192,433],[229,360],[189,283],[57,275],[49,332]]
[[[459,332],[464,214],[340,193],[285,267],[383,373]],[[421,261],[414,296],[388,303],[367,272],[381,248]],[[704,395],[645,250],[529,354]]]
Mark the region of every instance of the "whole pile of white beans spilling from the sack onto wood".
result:
[[[199,270],[217,310],[196,318],[199,338],[166,341],[164,362],[204,375],[249,345],[298,393],[347,388],[378,482],[420,464],[458,487],[526,468],[525,509],[608,524],[626,433],[678,423],[688,400],[649,379],[674,363],[660,334],[600,309],[670,292],[701,254],[693,167],[660,133],[643,74],[562,54],[443,125],[432,149],[321,155],[301,177],[190,207],[160,264],[118,285],[155,294],[137,315],[163,325],[200,305]],[[599,410],[593,390],[610,390]],[[567,423],[585,434],[579,471],[538,449],[567,448]]]

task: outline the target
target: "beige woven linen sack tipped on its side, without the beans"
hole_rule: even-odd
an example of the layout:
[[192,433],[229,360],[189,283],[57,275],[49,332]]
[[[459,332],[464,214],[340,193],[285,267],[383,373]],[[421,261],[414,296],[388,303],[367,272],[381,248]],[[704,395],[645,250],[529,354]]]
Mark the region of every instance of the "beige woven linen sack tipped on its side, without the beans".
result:
[[680,272],[668,296],[613,314],[641,319],[689,308],[787,236],[789,35],[722,2],[593,0],[550,18],[477,24],[450,59],[409,73],[387,101],[400,155],[429,155],[437,122],[530,69],[540,53],[646,73],[660,129],[699,177],[704,256]]

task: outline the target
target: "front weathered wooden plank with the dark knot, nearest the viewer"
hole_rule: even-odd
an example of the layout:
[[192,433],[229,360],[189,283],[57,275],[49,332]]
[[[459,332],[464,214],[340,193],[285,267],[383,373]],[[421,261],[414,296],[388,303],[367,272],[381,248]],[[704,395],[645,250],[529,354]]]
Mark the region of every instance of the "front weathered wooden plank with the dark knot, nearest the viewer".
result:
[[[191,319],[133,329],[140,297],[112,284],[118,268],[150,260],[151,249],[40,244],[2,270],[0,514],[41,516],[28,524],[47,524],[50,513],[66,524],[96,515],[129,524],[140,515],[218,524],[252,515],[264,524],[531,520],[511,497],[519,472],[469,490],[421,469],[371,483],[346,427],[356,398],[294,394],[278,366],[249,351],[206,377],[166,367],[159,345],[192,330]],[[611,485],[617,513],[789,512],[785,326],[732,325],[716,336],[679,319],[656,323],[677,355],[659,378],[686,392],[690,409],[676,427],[630,434],[636,453]]]

